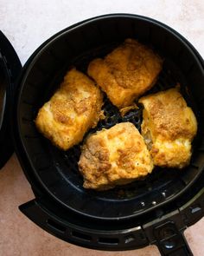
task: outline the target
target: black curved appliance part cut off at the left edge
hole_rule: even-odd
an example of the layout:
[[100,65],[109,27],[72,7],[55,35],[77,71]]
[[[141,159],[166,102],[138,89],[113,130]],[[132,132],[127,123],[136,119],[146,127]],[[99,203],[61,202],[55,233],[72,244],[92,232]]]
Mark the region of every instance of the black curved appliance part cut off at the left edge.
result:
[[14,151],[10,115],[16,79],[21,70],[15,49],[0,30],[0,168]]

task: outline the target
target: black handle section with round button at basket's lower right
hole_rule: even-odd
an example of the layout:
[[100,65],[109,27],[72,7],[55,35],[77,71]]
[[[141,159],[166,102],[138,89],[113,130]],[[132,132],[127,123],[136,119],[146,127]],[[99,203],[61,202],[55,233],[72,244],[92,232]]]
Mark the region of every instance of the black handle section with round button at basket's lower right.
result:
[[162,255],[193,255],[183,235],[187,226],[204,215],[204,187],[191,200],[177,210],[161,214],[156,220],[143,225],[150,244],[155,244]]

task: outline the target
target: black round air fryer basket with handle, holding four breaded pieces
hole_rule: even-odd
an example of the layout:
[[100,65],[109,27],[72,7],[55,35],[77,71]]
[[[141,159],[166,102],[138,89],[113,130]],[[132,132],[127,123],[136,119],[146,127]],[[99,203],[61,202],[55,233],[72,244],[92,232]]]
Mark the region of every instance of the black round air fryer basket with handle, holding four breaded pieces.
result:
[[[35,116],[59,86],[67,69],[86,73],[87,64],[135,38],[163,56],[163,71],[150,92],[180,82],[182,95],[198,121],[190,165],[157,168],[143,181],[96,192],[82,187],[77,162],[80,145],[67,152],[38,133]],[[129,250],[156,244],[162,255],[192,255],[182,233],[203,216],[204,204],[204,64],[201,56],[163,23],[147,17],[99,16],[62,30],[43,43],[22,69],[14,97],[12,127],[16,154],[35,200],[20,210],[62,240],[101,250]],[[122,117],[105,99],[106,118],[97,128],[131,121],[140,129],[141,109]]]

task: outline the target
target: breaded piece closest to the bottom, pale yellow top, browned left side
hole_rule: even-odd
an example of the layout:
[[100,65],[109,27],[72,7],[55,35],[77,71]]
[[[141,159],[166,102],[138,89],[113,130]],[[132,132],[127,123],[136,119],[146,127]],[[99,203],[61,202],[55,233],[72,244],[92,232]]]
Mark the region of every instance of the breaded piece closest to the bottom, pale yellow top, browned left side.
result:
[[107,190],[150,174],[150,153],[131,122],[122,122],[90,135],[79,161],[84,187]]

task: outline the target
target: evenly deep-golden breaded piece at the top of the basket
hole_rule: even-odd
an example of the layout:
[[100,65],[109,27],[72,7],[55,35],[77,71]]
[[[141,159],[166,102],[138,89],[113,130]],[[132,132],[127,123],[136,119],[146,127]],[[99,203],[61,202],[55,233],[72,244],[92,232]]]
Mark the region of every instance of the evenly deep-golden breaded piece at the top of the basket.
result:
[[126,39],[105,59],[90,62],[88,75],[105,91],[113,105],[125,108],[152,88],[162,66],[163,60],[152,49],[134,39]]

